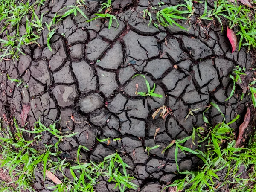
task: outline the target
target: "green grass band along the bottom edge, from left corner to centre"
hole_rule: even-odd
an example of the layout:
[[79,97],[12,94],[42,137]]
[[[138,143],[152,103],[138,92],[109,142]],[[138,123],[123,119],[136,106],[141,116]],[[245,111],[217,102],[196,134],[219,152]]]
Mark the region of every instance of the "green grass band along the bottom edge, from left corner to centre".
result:
[[[49,127],[44,126],[40,121],[35,122],[35,131],[19,128],[15,119],[13,119],[13,123],[15,125],[14,133],[9,127],[1,128],[0,131],[0,151],[2,154],[0,167],[9,172],[13,180],[12,183],[16,184],[17,189],[13,191],[20,192],[22,189],[33,191],[32,183],[35,181],[35,172],[42,172],[45,180],[47,170],[51,172],[59,170],[64,177],[61,183],[49,187],[49,189],[54,189],[55,192],[66,192],[67,190],[70,192],[93,191],[99,177],[105,177],[108,182],[116,183],[115,188],[118,187],[121,192],[124,192],[127,188],[137,189],[138,186],[132,183],[134,177],[127,174],[126,171],[126,168],[130,166],[123,162],[117,152],[108,155],[100,163],[93,161],[81,163],[79,160],[80,151],[81,149],[88,151],[88,149],[80,145],[77,151],[76,162],[68,162],[66,159],[60,159],[59,154],[61,154],[61,151],[58,151],[58,143],[64,140],[65,137],[72,137],[76,133],[62,133],[56,128],[57,122]],[[23,137],[24,131],[29,134],[35,134],[34,139],[25,140]],[[39,148],[38,150],[37,144],[43,131],[48,131],[52,134],[52,137],[58,138],[58,142],[54,146],[45,145],[44,149]],[[120,140],[120,138],[116,138],[116,140]],[[70,170],[73,176],[72,181],[66,177],[64,169]],[[17,179],[15,180],[15,178]],[[11,188],[3,186],[0,189],[8,191]]]

